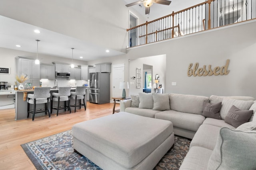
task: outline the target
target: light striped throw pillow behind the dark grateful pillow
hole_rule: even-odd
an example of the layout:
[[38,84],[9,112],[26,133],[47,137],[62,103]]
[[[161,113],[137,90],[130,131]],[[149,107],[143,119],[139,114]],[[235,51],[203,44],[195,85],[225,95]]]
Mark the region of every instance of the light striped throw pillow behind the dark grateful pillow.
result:
[[236,106],[241,110],[248,110],[253,104],[253,100],[236,100],[231,98],[223,98],[222,100],[222,106],[220,109],[220,118],[222,120],[225,120],[226,115],[228,114],[228,111],[230,110],[231,106]]

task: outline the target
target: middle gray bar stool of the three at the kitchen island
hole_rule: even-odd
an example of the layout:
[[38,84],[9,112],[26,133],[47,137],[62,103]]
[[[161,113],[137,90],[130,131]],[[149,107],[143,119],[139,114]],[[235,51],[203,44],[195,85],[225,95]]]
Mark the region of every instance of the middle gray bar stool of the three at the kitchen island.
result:
[[[70,90],[71,87],[59,87],[59,92],[58,93],[52,93],[52,100],[51,100],[51,113],[52,113],[52,109],[56,109],[57,110],[57,116],[59,113],[59,109],[69,109],[70,113],[71,113],[71,109],[70,109]],[[52,107],[53,105],[53,101],[58,102],[58,106],[57,107]],[[60,102],[64,101],[64,106],[60,106]],[[66,102],[68,101],[68,106],[66,105]]]

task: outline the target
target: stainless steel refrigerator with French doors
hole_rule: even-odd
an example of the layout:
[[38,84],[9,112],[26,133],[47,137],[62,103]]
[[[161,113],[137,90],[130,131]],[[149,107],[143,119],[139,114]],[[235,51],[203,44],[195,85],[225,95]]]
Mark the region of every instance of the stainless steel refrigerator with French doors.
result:
[[90,103],[104,104],[110,102],[110,73],[91,72]]

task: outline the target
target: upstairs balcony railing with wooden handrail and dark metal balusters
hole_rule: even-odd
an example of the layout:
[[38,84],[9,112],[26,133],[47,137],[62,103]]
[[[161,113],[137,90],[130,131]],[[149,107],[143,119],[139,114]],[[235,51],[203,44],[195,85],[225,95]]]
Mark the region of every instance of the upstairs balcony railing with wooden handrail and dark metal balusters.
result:
[[256,18],[256,0],[208,0],[127,29],[128,47],[188,35]]

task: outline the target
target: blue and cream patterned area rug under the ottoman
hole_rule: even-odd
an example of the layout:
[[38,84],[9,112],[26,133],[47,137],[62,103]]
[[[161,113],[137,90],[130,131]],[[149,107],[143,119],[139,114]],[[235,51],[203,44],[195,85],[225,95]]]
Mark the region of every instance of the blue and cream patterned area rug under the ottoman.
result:
[[[175,136],[174,148],[164,155],[154,170],[178,170],[190,141]],[[101,170],[84,156],[74,152],[71,130],[21,145],[38,170]]]

